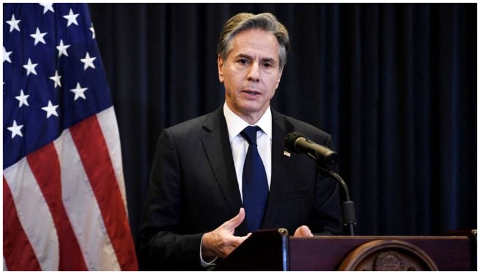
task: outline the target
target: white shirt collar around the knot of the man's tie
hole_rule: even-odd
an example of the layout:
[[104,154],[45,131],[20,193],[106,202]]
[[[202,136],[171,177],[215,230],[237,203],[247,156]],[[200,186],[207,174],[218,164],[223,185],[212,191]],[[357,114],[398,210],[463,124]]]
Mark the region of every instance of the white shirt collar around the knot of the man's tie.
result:
[[[247,122],[243,121],[243,119],[228,108],[226,102],[224,103],[224,116],[227,121],[228,138],[230,141],[239,135],[245,127],[249,126]],[[270,140],[272,140],[272,111],[270,110],[270,106],[268,106],[267,111],[265,111],[263,116],[261,116],[259,121],[254,125],[259,126],[262,131],[267,134]]]

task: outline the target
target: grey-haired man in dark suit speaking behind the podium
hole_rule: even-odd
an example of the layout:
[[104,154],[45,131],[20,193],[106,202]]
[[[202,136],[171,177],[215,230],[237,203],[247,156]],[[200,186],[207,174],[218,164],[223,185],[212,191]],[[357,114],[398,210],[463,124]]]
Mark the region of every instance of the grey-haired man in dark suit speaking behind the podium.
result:
[[[331,136],[269,106],[288,47],[287,30],[272,14],[241,13],[227,21],[217,49],[224,105],[160,134],[138,239],[144,269],[205,269],[256,229],[284,227],[296,236],[341,232],[336,182],[319,174],[307,155],[285,147],[289,132],[327,147],[333,147]],[[260,190],[249,193],[251,180],[243,174],[254,153],[248,151],[255,140],[243,132],[249,125],[256,126],[261,158],[252,169],[261,166],[263,178],[254,181],[265,184],[256,227],[256,209],[245,201],[259,201],[250,195]]]

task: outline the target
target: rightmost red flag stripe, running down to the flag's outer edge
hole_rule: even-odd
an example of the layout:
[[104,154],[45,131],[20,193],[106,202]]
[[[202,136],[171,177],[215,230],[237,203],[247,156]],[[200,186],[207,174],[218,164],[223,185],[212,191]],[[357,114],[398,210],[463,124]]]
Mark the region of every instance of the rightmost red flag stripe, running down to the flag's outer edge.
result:
[[121,270],[136,271],[138,266],[125,204],[97,116],[91,116],[69,130],[98,201]]

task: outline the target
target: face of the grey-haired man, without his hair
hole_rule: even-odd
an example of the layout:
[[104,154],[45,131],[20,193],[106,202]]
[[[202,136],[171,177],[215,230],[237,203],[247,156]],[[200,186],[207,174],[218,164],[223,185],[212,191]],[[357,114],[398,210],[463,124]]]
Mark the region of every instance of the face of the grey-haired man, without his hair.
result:
[[249,29],[232,40],[226,60],[218,58],[220,82],[230,110],[253,124],[267,110],[280,83],[278,41],[270,32]]

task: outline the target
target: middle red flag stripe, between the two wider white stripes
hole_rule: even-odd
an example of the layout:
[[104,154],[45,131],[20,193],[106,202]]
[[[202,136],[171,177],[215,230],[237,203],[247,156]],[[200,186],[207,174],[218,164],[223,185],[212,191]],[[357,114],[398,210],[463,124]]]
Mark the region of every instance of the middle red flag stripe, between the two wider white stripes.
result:
[[35,176],[43,197],[53,217],[58,234],[59,271],[88,271],[62,201],[60,162],[53,143],[27,156],[27,162]]

